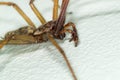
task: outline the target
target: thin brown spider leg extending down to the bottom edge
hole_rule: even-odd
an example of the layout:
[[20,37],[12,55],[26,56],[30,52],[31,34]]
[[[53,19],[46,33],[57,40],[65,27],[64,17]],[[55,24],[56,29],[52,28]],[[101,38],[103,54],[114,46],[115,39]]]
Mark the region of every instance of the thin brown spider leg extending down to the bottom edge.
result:
[[76,75],[75,75],[75,73],[74,73],[74,71],[72,69],[72,66],[71,66],[71,64],[70,64],[64,50],[58,45],[58,43],[54,40],[54,38],[50,34],[47,34],[47,35],[48,35],[49,40],[52,42],[52,44],[60,51],[60,53],[63,56],[63,58],[64,58],[64,60],[65,60],[65,62],[67,64],[67,66],[68,66],[74,80],[77,80],[77,77],[76,77]]

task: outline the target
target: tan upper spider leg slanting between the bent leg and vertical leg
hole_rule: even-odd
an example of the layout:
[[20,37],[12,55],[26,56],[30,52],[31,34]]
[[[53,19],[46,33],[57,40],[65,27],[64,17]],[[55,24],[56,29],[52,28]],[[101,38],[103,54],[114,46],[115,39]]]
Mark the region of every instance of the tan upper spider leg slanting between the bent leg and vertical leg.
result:
[[46,20],[44,19],[44,17],[42,16],[42,14],[38,11],[38,9],[35,7],[35,5],[33,4],[34,0],[30,0],[30,7],[33,10],[33,12],[35,13],[35,15],[37,16],[37,18],[40,20],[40,22],[42,24],[46,23]]

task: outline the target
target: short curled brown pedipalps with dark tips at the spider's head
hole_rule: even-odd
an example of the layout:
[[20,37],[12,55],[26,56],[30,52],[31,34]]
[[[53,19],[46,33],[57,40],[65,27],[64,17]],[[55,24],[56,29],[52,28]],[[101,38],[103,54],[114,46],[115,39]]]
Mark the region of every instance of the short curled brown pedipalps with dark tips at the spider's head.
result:
[[[72,30],[69,29],[69,27],[72,27]],[[63,29],[62,33],[65,33],[65,32],[71,33],[72,38],[70,39],[70,42],[74,41],[75,42],[75,47],[76,47],[78,45],[79,40],[78,40],[78,34],[77,34],[75,24],[72,23],[72,22],[67,23],[64,26],[64,29]]]

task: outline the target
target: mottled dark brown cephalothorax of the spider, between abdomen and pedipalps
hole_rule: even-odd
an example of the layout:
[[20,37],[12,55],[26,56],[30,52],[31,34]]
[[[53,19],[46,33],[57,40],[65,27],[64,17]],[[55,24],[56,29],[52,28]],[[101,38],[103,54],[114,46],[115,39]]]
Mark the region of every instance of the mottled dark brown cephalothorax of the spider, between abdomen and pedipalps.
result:
[[[49,21],[48,23],[44,24],[44,25],[41,25],[39,28],[37,28],[33,35],[34,36],[43,36],[43,34],[51,34],[52,37],[56,38],[56,39],[63,39],[65,37],[65,33],[63,33],[63,29],[61,29],[59,31],[59,33],[57,35],[55,35],[55,27],[56,27],[56,23],[57,21],[56,20],[52,20],[52,21]],[[63,25],[62,25],[63,26]],[[43,36],[44,37],[44,36]]]

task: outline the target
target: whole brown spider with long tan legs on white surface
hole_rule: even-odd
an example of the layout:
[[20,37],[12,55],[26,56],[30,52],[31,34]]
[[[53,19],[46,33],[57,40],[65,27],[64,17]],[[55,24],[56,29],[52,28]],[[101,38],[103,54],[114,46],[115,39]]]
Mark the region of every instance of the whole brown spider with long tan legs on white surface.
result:
[[[29,26],[23,26],[15,31],[8,32],[5,35],[3,40],[0,40],[0,48],[2,48],[6,44],[32,44],[32,43],[41,43],[50,40],[52,44],[60,51],[62,56],[64,57],[74,80],[77,80],[75,73],[63,51],[63,49],[57,44],[54,39],[63,40],[65,38],[65,33],[71,33],[72,38],[70,41],[75,42],[75,46],[78,45],[78,35],[77,30],[74,23],[69,22],[65,24],[65,14],[66,9],[69,3],[69,0],[62,0],[61,11],[58,16],[58,0],[53,0],[54,8],[53,8],[53,20],[46,22],[41,13],[37,10],[35,5],[33,4],[34,0],[30,0],[30,7],[37,16],[37,18],[42,23],[38,28],[35,27],[34,23],[30,20],[30,18],[16,5],[12,2],[0,2],[0,5],[13,6],[16,11],[24,18],[24,20],[28,23]],[[72,29],[69,29],[72,27]]]

